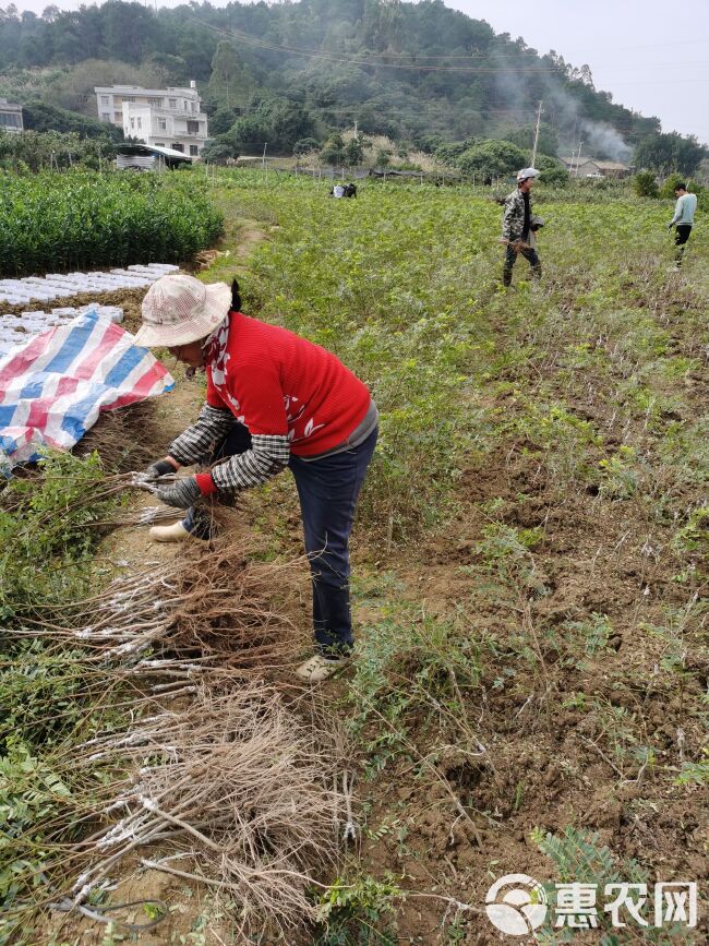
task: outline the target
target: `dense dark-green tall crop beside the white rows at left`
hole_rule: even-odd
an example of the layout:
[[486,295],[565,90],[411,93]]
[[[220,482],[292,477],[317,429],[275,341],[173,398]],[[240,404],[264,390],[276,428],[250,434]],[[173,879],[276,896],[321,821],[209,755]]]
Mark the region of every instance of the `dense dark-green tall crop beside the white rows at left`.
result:
[[0,277],[179,262],[211,246],[221,226],[189,172],[2,175]]

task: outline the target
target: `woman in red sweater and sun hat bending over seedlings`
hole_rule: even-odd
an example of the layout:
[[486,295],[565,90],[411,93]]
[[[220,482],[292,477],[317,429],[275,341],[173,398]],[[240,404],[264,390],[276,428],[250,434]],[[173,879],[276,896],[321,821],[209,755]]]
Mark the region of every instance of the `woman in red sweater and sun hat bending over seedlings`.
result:
[[205,286],[192,276],[164,276],[143,300],[136,343],[167,347],[207,375],[206,404],[195,423],[153,464],[157,479],[181,466],[228,457],[208,472],[178,479],[157,495],[188,510],[184,519],[154,527],[157,541],[208,537],[194,504],[265,482],[286,466],[296,478],[305,551],[313,578],[315,655],[297,673],[311,683],[329,676],[352,650],[349,534],[378,416],[366,386],[332,352],[240,312],[239,287]]

